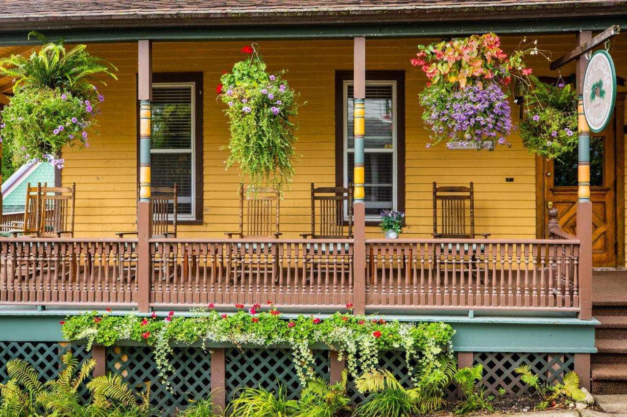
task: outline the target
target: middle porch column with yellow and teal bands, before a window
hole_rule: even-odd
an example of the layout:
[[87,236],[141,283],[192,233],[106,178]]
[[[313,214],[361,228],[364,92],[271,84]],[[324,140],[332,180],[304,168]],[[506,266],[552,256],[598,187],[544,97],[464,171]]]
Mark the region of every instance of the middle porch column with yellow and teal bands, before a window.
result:
[[366,115],[366,38],[354,39],[353,122],[355,241],[353,249],[355,313],[366,312],[366,203],[364,202],[364,121]]

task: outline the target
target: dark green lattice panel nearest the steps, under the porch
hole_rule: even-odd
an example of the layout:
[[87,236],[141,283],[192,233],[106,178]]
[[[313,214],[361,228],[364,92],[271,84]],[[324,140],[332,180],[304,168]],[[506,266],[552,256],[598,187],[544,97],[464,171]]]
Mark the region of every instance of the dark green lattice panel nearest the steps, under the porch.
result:
[[569,353],[475,353],[474,361],[483,364],[483,383],[490,392],[505,388],[517,395],[529,393],[514,372],[522,364],[549,384],[561,383],[564,374],[574,369],[574,355]]

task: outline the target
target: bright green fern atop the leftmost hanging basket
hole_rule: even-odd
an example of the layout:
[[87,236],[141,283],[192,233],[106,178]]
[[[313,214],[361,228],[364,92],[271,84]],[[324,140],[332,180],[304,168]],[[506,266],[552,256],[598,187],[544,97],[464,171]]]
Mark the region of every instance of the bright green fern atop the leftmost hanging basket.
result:
[[70,51],[63,46],[63,39],[49,42],[43,34],[32,31],[28,34],[38,38],[44,45],[26,58],[11,55],[0,59],[0,75],[16,79],[14,89],[23,83],[49,88],[64,88],[69,91],[85,91],[93,83],[106,83],[98,75],[108,75],[114,80],[117,68],[105,59],[87,53],[86,45],[77,45]]

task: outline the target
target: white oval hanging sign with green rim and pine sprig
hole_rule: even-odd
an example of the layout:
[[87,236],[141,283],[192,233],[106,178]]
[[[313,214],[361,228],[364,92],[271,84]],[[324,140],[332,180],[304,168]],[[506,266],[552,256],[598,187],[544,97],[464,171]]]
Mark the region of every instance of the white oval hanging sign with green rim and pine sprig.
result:
[[608,125],[616,100],[616,69],[608,51],[596,51],[584,75],[584,115],[591,131],[598,133]]

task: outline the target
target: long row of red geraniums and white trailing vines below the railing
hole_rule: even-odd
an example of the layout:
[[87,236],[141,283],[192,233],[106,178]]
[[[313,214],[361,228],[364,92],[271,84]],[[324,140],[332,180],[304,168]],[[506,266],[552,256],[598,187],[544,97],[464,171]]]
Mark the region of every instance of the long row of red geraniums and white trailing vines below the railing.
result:
[[[172,369],[172,341],[192,344],[199,339],[207,342],[228,342],[241,347],[288,344],[292,348],[293,363],[303,386],[316,378],[312,344],[324,343],[339,351],[346,359],[347,369],[354,378],[375,369],[379,350],[404,349],[408,373],[414,385],[419,386],[424,376],[440,369],[443,356],[451,357],[451,339],[455,331],[443,322],[387,322],[376,317],[354,316],[352,304],[347,313],[336,312],[326,319],[298,316],[287,320],[268,304],[261,311],[255,304],[248,311],[236,304],[238,312],[219,313],[213,304],[192,310],[192,317],[175,316],[171,311],[163,318],[153,312],[150,317],[134,313],[125,316],[88,312],[70,316],[61,322],[63,336],[68,341],[87,340],[112,346],[122,340],[146,342],[154,347],[155,363],[166,381]],[[411,364],[416,363],[416,366]]]

